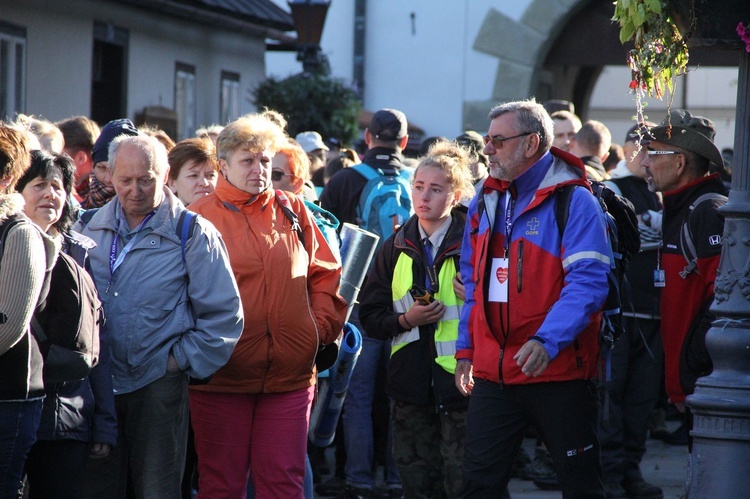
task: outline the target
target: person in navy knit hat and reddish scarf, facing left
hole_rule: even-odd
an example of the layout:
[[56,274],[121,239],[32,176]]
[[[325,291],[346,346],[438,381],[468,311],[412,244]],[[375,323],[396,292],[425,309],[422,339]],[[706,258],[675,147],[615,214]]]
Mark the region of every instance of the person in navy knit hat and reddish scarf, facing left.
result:
[[104,206],[115,196],[107,156],[109,155],[109,144],[120,135],[136,136],[138,135],[138,129],[128,119],[112,120],[104,125],[99,138],[94,142],[94,148],[91,150],[91,161],[94,163],[94,169],[89,175],[86,191],[79,191],[82,198],[81,206],[85,209]]

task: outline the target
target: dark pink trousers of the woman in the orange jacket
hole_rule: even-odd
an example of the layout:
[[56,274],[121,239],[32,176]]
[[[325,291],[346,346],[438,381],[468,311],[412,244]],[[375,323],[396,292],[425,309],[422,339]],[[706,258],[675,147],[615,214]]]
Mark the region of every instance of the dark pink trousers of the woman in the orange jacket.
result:
[[287,393],[190,391],[198,498],[302,498],[314,387]]

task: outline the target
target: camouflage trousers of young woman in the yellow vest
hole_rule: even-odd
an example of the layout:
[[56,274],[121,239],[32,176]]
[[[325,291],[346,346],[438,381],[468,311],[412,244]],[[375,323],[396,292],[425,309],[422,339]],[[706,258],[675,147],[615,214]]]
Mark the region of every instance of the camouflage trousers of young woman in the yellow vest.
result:
[[453,498],[463,485],[466,409],[393,402],[393,460],[405,498]]

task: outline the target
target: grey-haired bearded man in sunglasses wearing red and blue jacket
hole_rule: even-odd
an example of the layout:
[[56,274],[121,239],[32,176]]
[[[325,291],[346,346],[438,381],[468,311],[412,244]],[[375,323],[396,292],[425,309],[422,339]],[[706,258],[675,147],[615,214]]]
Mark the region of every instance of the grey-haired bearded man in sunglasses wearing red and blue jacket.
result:
[[[612,257],[604,214],[583,163],[551,147],[540,104],[501,104],[489,117],[490,177],[469,206],[460,259],[456,385],[471,395],[461,497],[506,489],[534,424],[563,495],[603,498],[593,379]],[[566,185],[563,230],[555,206]]]

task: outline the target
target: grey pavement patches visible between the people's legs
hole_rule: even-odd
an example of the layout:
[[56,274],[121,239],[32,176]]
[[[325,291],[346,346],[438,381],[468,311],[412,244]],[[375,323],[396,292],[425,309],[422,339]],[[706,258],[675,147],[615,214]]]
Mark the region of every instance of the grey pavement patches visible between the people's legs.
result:
[[[667,428],[672,431],[679,426],[676,421],[667,421]],[[529,455],[534,455],[534,440],[525,439],[524,448]],[[326,456],[329,463],[334,462],[333,449],[328,448]],[[687,477],[688,464],[687,446],[668,445],[661,440],[648,439],[646,441],[646,454],[641,461],[641,473],[643,478],[662,488],[664,499],[682,499],[685,497],[685,479]],[[382,467],[381,467],[382,468]],[[382,469],[378,470],[379,474]],[[323,480],[328,479],[323,477]],[[562,493],[559,491],[541,490],[534,482],[516,479],[511,480],[508,490],[512,499],[559,499]],[[323,499],[326,496],[315,495]]]

